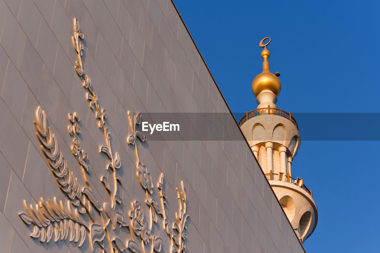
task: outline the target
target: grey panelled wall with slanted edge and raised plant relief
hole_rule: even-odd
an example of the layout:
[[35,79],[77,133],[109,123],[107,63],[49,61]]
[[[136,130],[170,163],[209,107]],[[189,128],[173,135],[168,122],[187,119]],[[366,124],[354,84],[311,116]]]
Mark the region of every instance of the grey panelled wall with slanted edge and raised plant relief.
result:
[[3,252],[304,252],[173,2],[0,0],[0,27]]

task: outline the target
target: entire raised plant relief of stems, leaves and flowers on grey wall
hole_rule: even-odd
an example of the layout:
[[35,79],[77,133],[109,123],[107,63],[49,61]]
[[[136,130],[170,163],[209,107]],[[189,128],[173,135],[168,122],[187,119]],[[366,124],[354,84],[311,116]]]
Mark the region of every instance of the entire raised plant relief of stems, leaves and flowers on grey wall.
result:
[[[93,91],[91,79],[85,74],[82,64],[84,33],[81,31],[77,19],[74,19],[73,46],[78,54],[78,60],[74,68],[85,89],[85,99],[92,109],[98,128],[104,137],[105,145],[99,147],[99,152],[107,160],[107,166],[103,170],[104,176],[98,179],[91,178],[92,166],[90,164],[85,147],[79,142],[81,136],[80,118],[76,112],[68,114],[68,133],[73,144],[71,152],[79,163],[79,170],[82,172],[82,182],[86,184],[82,187],[70,170],[67,160],[63,157],[59,148],[55,134],[51,133],[48,126],[46,113],[39,106],[36,110],[36,136],[41,143],[41,150],[49,163],[51,172],[55,176],[60,190],[67,196],[67,201],[40,199],[33,207],[28,206],[24,200],[25,212],[19,213],[19,217],[26,225],[33,225],[33,232],[30,237],[40,239],[40,242],[54,240],[68,240],[76,242],[79,247],[89,238],[89,245],[94,250],[95,243],[103,252],[134,252],[153,253],[162,250],[163,240],[154,233],[153,224],[159,221],[162,228],[169,236],[172,253],[185,253],[187,251],[185,240],[187,215],[187,199],[184,182],[181,182],[181,190],[176,188],[176,195],[179,202],[179,210],[175,213],[175,221],[171,223],[167,217],[166,195],[163,192],[164,175],[161,173],[154,187],[149,168],[140,161],[138,145],[146,142],[146,136],[138,130],[141,124],[141,114],[135,113],[133,116],[128,111],[127,117],[131,135],[127,137],[127,144],[134,147],[136,155],[136,179],[138,179],[142,190],[145,191],[146,199],[134,200],[130,207],[125,206],[120,197],[123,185],[118,175],[118,169],[122,167],[119,152],[115,152],[111,145],[111,131],[105,109],[100,106],[97,94]],[[94,155],[94,154],[93,154]],[[93,164],[98,166],[98,164]],[[97,169],[96,171],[102,171]],[[131,175],[133,176],[133,175]],[[108,201],[96,198],[92,191],[89,180],[100,180],[108,193]],[[145,206],[144,203],[145,202]],[[146,208],[147,207],[147,208]],[[130,210],[125,218],[122,210]],[[129,219],[128,219],[129,218]],[[119,233],[123,230],[125,233]],[[123,236],[125,235],[125,236]]]

